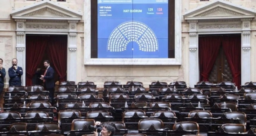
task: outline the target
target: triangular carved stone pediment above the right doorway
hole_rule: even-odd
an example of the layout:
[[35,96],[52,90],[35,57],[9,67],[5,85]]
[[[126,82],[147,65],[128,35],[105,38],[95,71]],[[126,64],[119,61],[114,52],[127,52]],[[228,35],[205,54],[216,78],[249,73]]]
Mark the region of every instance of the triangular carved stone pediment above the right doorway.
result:
[[255,17],[255,12],[252,9],[228,1],[215,0],[195,9],[191,9],[183,16],[185,20],[252,19]]

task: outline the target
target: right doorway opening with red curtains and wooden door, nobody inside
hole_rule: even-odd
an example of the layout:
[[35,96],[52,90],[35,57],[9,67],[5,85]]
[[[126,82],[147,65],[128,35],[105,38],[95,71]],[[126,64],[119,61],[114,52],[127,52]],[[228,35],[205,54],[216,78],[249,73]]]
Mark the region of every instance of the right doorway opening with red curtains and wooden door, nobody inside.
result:
[[200,81],[241,85],[241,34],[199,35]]

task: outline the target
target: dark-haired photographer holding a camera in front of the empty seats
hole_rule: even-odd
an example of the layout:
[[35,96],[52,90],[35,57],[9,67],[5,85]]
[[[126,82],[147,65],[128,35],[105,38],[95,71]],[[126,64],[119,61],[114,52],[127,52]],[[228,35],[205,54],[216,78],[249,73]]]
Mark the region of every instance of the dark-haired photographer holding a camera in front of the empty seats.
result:
[[[100,126],[101,122],[95,122],[95,126]],[[95,136],[99,136],[99,133],[96,131],[93,131]],[[112,123],[107,123],[102,126],[102,131],[100,132],[100,136],[113,136],[115,134],[115,127]]]

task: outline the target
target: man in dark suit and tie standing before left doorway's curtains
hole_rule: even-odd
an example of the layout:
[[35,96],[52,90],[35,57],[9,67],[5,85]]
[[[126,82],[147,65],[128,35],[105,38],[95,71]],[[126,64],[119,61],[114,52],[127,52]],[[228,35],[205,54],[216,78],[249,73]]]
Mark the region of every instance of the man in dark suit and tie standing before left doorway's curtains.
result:
[[53,102],[54,97],[54,69],[50,67],[50,61],[43,61],[43,65],[46,68],[43,75],[41,75],[40,79],[43,80],[45,90],[49,91],[49,97]]

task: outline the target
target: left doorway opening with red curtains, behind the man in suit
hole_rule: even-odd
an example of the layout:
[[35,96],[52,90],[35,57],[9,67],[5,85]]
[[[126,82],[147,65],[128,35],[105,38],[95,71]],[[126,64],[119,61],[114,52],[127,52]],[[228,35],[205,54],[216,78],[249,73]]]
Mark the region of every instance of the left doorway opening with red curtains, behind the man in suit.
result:
[[[50,61],[54,68],[54,81],[66,81],[67,78],[68,35],[26,35],[26,86],[42,85],[39,79],[46,68],[44,60]],[[40,70],[39,70],[39,69]]]

